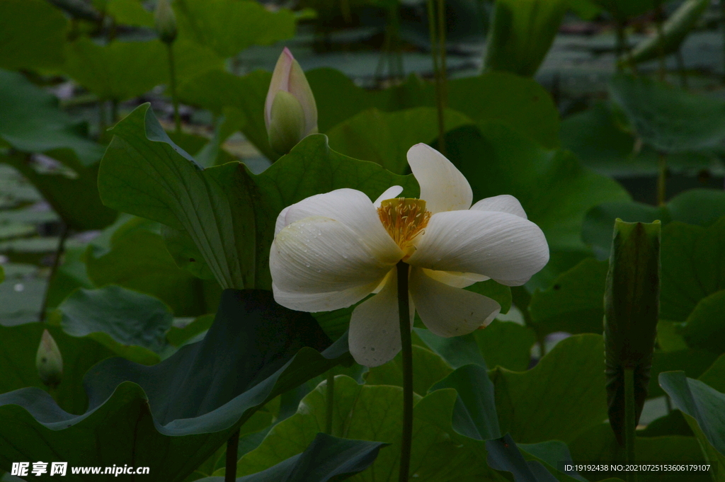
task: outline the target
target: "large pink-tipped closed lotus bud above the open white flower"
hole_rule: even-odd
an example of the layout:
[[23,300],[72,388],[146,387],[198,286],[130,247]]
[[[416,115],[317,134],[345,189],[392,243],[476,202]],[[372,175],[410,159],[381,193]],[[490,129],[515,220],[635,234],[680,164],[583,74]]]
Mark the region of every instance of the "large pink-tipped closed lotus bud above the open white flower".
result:
[[305,72],[287,48],[272,74],[265,101],[265,126],[270,146],[282,155],[302,138],[318,131],[315,96]]

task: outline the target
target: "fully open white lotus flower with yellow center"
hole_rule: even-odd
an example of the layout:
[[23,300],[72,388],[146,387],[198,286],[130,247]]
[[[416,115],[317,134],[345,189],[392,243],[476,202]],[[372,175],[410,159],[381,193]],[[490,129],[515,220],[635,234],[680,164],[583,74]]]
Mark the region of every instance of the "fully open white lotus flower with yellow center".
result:
[[376,201],[337,189],[299,201],[277,218],[270,252],[276,301],[306,312],[349,307],[350,353],[360,365],[382,365],[401,349],[397,262],[410,265],[410,325],[415,310],[439,336],[471,333],[500,312],[493,299],[463,288],[493,278],[521,286],[549,260],[542,230],[513,196],[473,204],[463,174],[435,149],[407,153],[421,199]]

